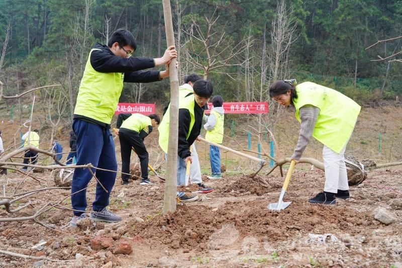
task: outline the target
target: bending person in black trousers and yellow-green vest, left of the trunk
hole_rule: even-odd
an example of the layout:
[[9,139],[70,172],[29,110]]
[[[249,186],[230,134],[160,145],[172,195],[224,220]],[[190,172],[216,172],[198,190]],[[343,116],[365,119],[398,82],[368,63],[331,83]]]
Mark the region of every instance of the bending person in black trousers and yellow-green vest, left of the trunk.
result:
[[119,114],[116,128],[120,140],[120,151],[122,154],[122,181],[123,185],[129,184],[130,179],[130,157],[131,148],[140,158],[141,177],[140,185],[149,185],[148,179],[148,151],[144,144],[144,139],[152,129],[159,125],[160,118],[156,114]]

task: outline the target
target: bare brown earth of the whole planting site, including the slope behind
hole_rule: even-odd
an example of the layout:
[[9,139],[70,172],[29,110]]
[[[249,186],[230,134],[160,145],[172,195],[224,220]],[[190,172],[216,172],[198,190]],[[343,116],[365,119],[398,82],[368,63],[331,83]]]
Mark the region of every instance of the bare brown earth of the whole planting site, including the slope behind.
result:
[[[237,141],[243,145],[247,144],[245,136],[240,133],[243,127],[246,128],[244,124],[238,126],[236,133]],[[295,124],[293,114],[285,112],[283,120],[275,125],[274,133],[284,155],[290,155],[295,144],[298,132]],[[401,161],[401,127],[402,109],[399,107],[363,109],[347,152],[359,160],[372,159],[377,163]],[[1,128],[7,147],[14,142],[18,126],[4,120]],[[68,148],[68,131],[66,127],[58,134],[64,148]],[[382,133],[381,154],[378,154],[378,132]],[[47,137],[45,134],[41,136],[44,139]],[[158,168],[163,163],[163,156],[156,147],[156,137],[157,131],[151,133],[146,143],[150,162]],[[224,143],[239,147],[230,139],[225,139]],[[255,140],[252,146],[256,147]],[[266,144],[264,146],[267,148]],[[313,141],[305,156],[320,159],[321,150],[322,146]],[[264,168],[255,178],[251,178],[249,174],[255,170],[255,163],[223,151],[222,163],[226,165],[227,171],[221,180],[208,180],[208,146],[199,143],[197,151],[204,183],[214,187],[215,191],[205,195],[197,194],[199,201],[178,206],[173,214],[161,215],[164,184],[156,176],[150,176],[154,185],[140,186],[137,180],[123,187],[118,175],[109,208],[122,216],[121,222],[94,223],[87,219],[79,228],[71,228],[67,227],[71,211],[53,208],[38,220],[54,229],[34,221],[0,222],[0,249],[69,260],[45,260],[46,267],[402,265],[401,166],[370,170],[363,184],[351,187],[351,199],[338,200],[335,206],[320,206],[308,204],[307,199],[322,191],[324,172],[310,170],[309,165],[297,165],[285,196],[285,201],[292,203],[287,209],[275,212],[266,207],[278,200],[284,180],[279,170],[266,175],[268,168]],[[118,141],[116,155],[120,161]],[[133,163],[136,158],[133,156]],[[158,169],[162,174],[164,167],[162,165]],[[28,177],[17,193],[40,189],[46,185],[54,186],[54,175],[49,171],[34,176],[46,182],[41,181],[42,185],[39,185]],[[22,174],[9,170],[6,195],[14,194],[23,178]],[[6,184],[3,179],[1,182]],[[88,188],[87,210],[90,210],[94,191],[94,185]],[[0,218],[30,216],[47,202],[54,204],[63,199],[61,206],[69,208],[68,195],[68,190],[39,192],[30,196],[32,206],[13,214],[1,209]],[[28,199],[20,200],[12,209],[26,202]],[[393,213],[396,222],[384,225],[377,221],[372,214],[377,207]],[[331,241],[331,236],[325,239],[325,234],[331,234],[337,240]],[[320,235],[324,237],[325,244],[318,243]],[[90,245],[95,236],[109,237],[111,246],[93,250]],[[41,240],[47,242],[43,248],[32,248]],[[122,242],[129,242],[133,252],[114,253],[122,252],[117,250]],[[2,267],[28,267],[35,261],[0,254]]]

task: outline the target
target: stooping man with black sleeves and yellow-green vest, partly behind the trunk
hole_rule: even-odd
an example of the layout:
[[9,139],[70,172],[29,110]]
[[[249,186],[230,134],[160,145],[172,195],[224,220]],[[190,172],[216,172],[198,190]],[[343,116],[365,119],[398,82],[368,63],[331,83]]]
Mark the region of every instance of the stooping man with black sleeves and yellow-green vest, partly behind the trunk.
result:
[[[193,95],[179,99],[177,185],[185,185],[186,163],[192,162],[190,146],[198,139],[203,126],[205,105],[212,95],[213,87],[210,81],[197,80],[193,84],[193,91]],[[166,156],[169,140],[169,114],[170,106],[158,127],[159,146]],[[178,192],[177,199],[180,202],[191,202],[198,200],[198,197]]]

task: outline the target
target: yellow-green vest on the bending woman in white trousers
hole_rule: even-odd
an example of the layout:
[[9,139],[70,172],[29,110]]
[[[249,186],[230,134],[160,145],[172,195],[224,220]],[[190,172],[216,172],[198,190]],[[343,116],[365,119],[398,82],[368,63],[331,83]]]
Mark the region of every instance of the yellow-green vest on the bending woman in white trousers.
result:
[[301,122],[299,110],[305,105],[320,109],[313,137],[340,153],[352,135],[360,106],[332,88],[313,82],[304,82],[296,86],[297,99],[293,100],[296,119]]

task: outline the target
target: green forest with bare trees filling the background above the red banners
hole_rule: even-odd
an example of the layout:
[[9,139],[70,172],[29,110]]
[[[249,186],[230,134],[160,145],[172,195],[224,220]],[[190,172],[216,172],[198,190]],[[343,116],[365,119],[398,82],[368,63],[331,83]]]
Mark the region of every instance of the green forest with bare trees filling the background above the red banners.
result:
[[[269,84],[284,78],[321,83],[367,104],[402,94],[400,0],[172,0],[171,6],[179,79],[196,72],[225,101],[266,101]],[[163,55],[161,0],[0,1],[4,95],[61,84],[53,101],[71,116],[90,48],[120,28],[136,38],[133,56]],[[51,99],[42,91],[40,97]],[[127,83],[120,101],[163,105],[168,98],[165,79]]]

